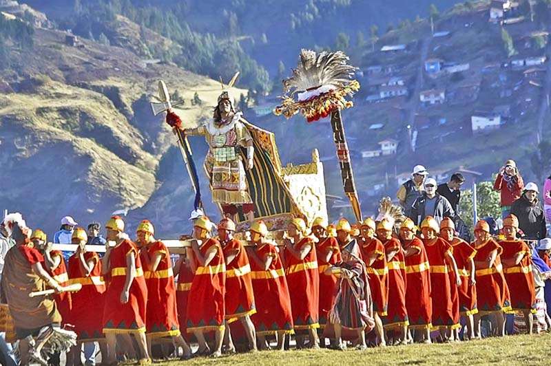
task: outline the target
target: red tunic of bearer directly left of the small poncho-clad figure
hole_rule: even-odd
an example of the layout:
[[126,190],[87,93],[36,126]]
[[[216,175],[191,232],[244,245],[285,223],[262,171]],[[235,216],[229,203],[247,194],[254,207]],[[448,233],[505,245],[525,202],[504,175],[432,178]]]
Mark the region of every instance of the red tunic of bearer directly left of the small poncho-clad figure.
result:
[[[329,261],[325,261],[327,250],[331,250]],[[315,246],[316,255],[318,256],[318,272],[320,273],[320,299],[318,301],[318,314],[320,316],[320,328],[324,328],[328,314],[335,300],[337,289],[337,277],[334,275],[325,275],[324,272],[329,266],[342,261],[340,257],[339,243],[335,237],[323,239]]]

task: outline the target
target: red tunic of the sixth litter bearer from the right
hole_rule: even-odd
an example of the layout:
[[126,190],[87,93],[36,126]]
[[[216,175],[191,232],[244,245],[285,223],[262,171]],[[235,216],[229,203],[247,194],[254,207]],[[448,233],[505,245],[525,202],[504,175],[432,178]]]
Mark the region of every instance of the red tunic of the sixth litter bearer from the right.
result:
[[400,242],[395,237],[384,243],[386,253],[398,249],[394,257],[388,261],[388,311],[384,319],[384,327],[388,329],[409,325],[406,310],[406,264]]

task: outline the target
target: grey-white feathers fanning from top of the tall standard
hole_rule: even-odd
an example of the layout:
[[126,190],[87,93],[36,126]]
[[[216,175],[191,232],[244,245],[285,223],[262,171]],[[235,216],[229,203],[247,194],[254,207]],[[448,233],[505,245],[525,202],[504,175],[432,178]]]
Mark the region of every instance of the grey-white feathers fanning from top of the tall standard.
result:
[[312,50],[303,49],[300,52],[298,67],[293,69],[293,76],[283,80],[283,91],[287,94],[291,89],[300,92],[322,85],[346,85],[357,69],[348,65],[347,61],[349,57],[340,51],[321,52],[316,55]]

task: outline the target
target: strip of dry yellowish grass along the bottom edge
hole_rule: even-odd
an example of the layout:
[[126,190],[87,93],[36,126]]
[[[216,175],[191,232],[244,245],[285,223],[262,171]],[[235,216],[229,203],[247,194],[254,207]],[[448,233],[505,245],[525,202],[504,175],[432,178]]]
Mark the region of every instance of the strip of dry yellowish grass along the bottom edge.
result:
[[366,351],[256,352],[156,365],[550,365],[550,345],[551,334],[541,334],[453,344],[370,348]]

